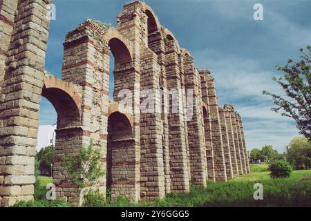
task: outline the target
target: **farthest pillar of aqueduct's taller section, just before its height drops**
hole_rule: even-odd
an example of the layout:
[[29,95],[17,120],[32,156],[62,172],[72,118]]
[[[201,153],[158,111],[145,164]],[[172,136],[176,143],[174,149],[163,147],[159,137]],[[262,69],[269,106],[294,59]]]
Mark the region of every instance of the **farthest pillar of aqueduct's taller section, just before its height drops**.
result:
[[221,131],[218,98],[214,78],[207,75],[209,90],[209,108],[211,110],[211,140],[213,142],[216,181],[227,181],[225,155],[223,151],[223,134]]

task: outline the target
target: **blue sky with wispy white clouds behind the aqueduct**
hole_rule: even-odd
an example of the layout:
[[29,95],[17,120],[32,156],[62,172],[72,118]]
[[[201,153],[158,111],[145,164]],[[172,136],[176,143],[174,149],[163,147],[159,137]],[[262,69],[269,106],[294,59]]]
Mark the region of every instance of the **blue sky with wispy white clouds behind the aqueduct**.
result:
[[[86,19],[115,26],[128,0],[54,0],[46,70],[61,77],[65,35]],[[209,69],[216,80],[220,106],[234,104],[244,122],[247,147],[265,144],[283,151],[298,135],[294,122],[272,113],[270,97],[262,90],[282,93],[271,80],[276,64],[299,59],[299,48],[311,44],[311,1],[308,0],[149,0],[145,1],[187,48],[199,69]],[[253,19],[254,4],[263,5],[264,20]],[[53,124],[53,106],[43,99],[40,124]]]

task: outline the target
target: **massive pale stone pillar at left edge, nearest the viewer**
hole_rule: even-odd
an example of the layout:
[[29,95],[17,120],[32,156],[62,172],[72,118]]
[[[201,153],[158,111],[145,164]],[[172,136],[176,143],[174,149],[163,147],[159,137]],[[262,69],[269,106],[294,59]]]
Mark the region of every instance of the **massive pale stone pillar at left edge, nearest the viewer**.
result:
[[0,3],[0,206],[33,199],[49,2]]

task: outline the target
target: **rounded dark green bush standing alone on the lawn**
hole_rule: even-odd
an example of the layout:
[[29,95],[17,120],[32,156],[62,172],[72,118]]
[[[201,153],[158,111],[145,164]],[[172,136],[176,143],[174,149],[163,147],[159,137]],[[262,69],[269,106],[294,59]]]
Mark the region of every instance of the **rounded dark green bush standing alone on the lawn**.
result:
[[292,173],[292,166],[284,160],[276,160],[270,164],[269,171],[272,178],[289,177]]

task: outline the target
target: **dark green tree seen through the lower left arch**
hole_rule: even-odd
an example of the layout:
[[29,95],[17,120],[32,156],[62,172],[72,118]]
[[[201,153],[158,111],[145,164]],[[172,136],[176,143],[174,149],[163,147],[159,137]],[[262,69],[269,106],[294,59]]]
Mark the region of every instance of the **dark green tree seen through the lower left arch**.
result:
[[55,158],[55,147],[53,145],[41,148],[39,153],[36,155],[36,171],[46,171],[48,175],[52,175],[52,167]]

